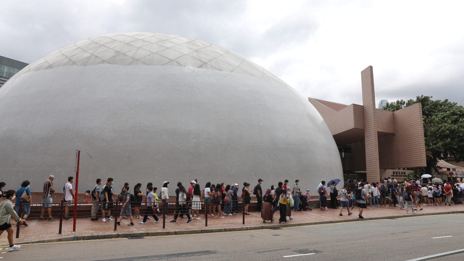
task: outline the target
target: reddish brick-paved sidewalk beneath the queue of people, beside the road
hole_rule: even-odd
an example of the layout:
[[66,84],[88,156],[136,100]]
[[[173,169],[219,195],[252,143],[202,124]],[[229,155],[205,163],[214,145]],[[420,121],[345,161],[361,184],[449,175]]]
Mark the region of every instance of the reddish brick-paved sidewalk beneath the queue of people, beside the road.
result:
[[[454,205],[454,206],[422,206],[424,210],[417,210],[416,214],[425,214],[425,213],[440,213],[447,214],[447,212],[452,211],[464,211],[464,204]],[[343,210],[343,216],[339,216],[340,210],[329,209],[327,212],[322,212],[319,209],[313,209],[312,211],[303,211],[303,212],[293,212],[292,217],[294,220],[287,223],[291,225],[292,223],[311,223],[311,222],[324,222],[324,221],[353,221],[353,219],[358,218],[358,208],[354,208],[353,215],[348,216],[348,213]],[[227,228],[239,228],[239,227],[254,227],[262,225],[278,225],[278,216],[279,212],[277,211],[274,215],[276,221],[267,222],[264,224],[258,212],[250,212],[251,215],[245,215],[245,225],[242,224],[242,214],[237,214],[233,216],[226,216],[226,218],[220,219],[217,218],[208,218],[208,226],[205,227],[205,218],[203,215],[200,215],[201,220],[193,220],[192,223],[187,224],[187,218],[178,219],[177,223],[170,223],[172,214],[168,215],[166,218],[166,229],[162,228],[162,218],[159,223],[153,223],[154,220],[148,220],[147,224],[139,224],[142,222],[142,219],[134,219],[134,226],[128,226],[129,219],[122,219],[121,225],[117,227],[117,231],[114,231],[114,222],[103,223],[100,221],[90,221],[90,218],[78,218],[76,224],[76,232],[72,232],[72,220],[66,221],[63,220],[63,229],[62,234],[58,234],[59,220],[54,222],[48,221],[38,221],[37,219],[28,220],[29,226],[21,226],[19,238],[15,238],[15,242],[30,242],[38,240],[47,240],[52,238],[59,237],[69,237],[69,236],[87,236],[87,235],[104,235],[104,234],[115,234],[115,233],[134,233],[134,232],[153,232],[153,231],[176,231],[177,234],[180,234],[180,230],[191,230],[191,229],[227,229]],[[365,209],[363,216],[365,219],[370,218],[380,218],[380,217],[393,217],[405,215],[405,210],[398,210],[394,207],[374,207],[374,209]],[[409,214],[412,214],[409,211]],[[160,216],[159,216],[160,217]],[[14,226],[16,235],[16,226]],[[242,230],[242,229],[237,229]],[[186,231],[187,232],[187,231]],[[206,232],[198,231],[196,233]],[[211,232],[208,231],[208,232]],[[189,232],[190,233],[190,232]],[[6,233],[0,236],[0,245],[7,243]],[[124,236],[117,235],[116,236]],[[70,239],[67,239],[70,240]],[[72,239],[71,239],[72,240]]]

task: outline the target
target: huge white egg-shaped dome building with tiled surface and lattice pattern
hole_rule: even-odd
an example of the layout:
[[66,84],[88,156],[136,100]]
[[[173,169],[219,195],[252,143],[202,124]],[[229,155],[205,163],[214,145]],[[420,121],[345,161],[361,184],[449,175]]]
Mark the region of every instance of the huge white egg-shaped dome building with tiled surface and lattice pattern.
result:
[[[217,45],[147,32],[92,37],[53,51],[0,89],[0,181],[42,191],[75,176],[133,187],[198,178],[226,184],[343,179],[335,141],[295,89]],[[175,186],[175,185],[174,185]],[[57,191],[60,191],[58,189]],[[174,190],[170,190],[174,192]]]

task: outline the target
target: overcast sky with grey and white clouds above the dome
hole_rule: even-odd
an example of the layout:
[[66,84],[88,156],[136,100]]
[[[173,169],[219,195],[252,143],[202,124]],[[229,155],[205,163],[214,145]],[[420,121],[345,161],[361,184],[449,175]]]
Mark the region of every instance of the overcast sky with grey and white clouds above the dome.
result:
[[223,46],[304,96],[362,104],[432,95],[464,105],[463,1],[0,0],[0,55],[32,63],[113,32],[163,32]]

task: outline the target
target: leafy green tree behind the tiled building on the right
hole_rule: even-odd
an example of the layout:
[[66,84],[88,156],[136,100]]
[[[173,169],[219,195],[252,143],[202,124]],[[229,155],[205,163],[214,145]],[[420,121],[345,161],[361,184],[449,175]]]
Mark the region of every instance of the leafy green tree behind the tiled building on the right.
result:
[[432,96],[417,96],[407,102],[398,100],[383,107],[396,111],[412,104],[422,104],[427,168],[438,172],[438,159],[452,156],[456,162],[464,160],[464,107],[448,99],[432,100]]

